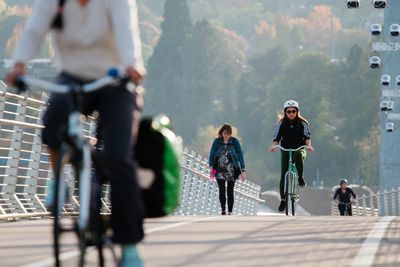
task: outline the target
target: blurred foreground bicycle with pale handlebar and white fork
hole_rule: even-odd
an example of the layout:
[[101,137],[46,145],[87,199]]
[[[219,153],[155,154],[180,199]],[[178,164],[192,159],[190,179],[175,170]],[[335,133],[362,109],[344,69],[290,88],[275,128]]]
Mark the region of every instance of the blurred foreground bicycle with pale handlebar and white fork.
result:
[[[91,240],[88,240],[88,230],[89,230],[89,219],[91,216],[90,201],[92,198],[92,158],[91,158],[91,146],[85,139],[82,132],[82,121],[81,117],[81,103],[82,94],[84,92],[91,92],[107,85],[113,84],[117,81],[121,83],[128,82],[127,78],[119,78],[117,72],[110,70],[109,76],[105,76],[99,80],[85,85],[72,84],[72,85],[59,85],[53,84],[44,80],[35,79],[29,76],[22,76],[18,79],[19,89],[25,89],[26,84],[40,87],[42,89],[57,92],[57,93],[67,93],[69,95],[69,111],[68,111],[68,121],[67,121],[67,131],[64,137],[61,149],[58,153],[58,159],[55,166],[55,198],[54,198],[54,254],[55,254],[55,265],[60,266],[59,252],[60,252],[60,235],[66,231],[75,231],[78,234],[79,247],[81,251],[81,256],[79,259],[80,266],[84,265],[84,257],[86,252],[86,247]],[[63,168],[66,164],[70,163],[74,170],[74,176],[79,186],[79,215],[74,228],[65,228],[60,223],[60,217],[62,214],[62,209],[64,206],[64,201],[66,198],[66,185],[64,181],[64,171]],[[100,201],[96,199],[95,201]],[[96,211],[97,212],[97,211]],[[93,213],[93,211],[92,211]],[[93,215],[92,215],[93,216]],[[98,219],[99,217],[96,216]],[[95,222],[100,224],[101,222]],[[97,227],[97,228],[96,228]],[[99,251],[99,265],[104,265],[102,247],[103,241],[100,236],[98,225],[95,226],[96,233],[90,232],[89,236],[92,234],[96,235],[95,238],[98,239],[96,246]],[[93,231],[93,230],[90,230]],[[89,237],[90,238],[90,237]],[[91,237],[93,238],[93,236]],[[97,240],[96,239],[96,240]],[[114,254],[114,252],[113,252]]]

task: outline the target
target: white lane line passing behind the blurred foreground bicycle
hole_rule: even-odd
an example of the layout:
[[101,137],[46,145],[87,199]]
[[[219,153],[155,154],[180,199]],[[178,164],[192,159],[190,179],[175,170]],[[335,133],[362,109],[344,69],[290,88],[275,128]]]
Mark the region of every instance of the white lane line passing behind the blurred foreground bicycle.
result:
[[[180,227],[183,225],[187,225],[187,224],[191,224],[191,223],[196,223],[196,222],[201,222],[201,221],[208,221],[211,219],[217,219],[217,218],[222,218],[221,216],[219,217],[207,217],[207,218],[202,218],[202,219],[196,219],[196,220],[191,220],[191,221],[185,221],[185,222],[180,222],[180,223],[173,223],[170,225],[165,225],[165,226],[160,226],[160,227],[156,227],[153,229],[149,229],[146,232],[146,234],[151,234],[151,233],[155,233],[155,232],[160,232],[163,230],[167,230],[167,229],[171,229],[171,228],[176,228],[176,227]],[[93,250],[94,248],[89,248],[91,250]],[[89,253],[89,249],[87,251],[87,253]],[[69,260],[75,257],[78,257],[80,255],[79,250],[72,250],[72,251],[68,251],[68,252],[64,252],[60,254],[60,261],[64,261],[64,260]],[[37,261],[37,262],[33,262],[33,263],[29,263],[27,265],[23,265],[21,267],[46,267],[46,266],[54,266],[54,258],[48,258],[48,259],[44,259],[41,261]]]

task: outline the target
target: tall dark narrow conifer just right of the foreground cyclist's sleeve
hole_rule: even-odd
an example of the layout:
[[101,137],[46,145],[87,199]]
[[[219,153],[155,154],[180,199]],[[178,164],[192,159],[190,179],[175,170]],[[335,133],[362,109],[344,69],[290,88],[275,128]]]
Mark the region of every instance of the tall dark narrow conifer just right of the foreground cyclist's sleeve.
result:
[[163,18],[161,37],[148,62],[146,112],[172,115],[181,104],[177,102],[177,95],[181,93],[178,81],[183,74],[181,49],[192,30],[186,0],[167,0]]

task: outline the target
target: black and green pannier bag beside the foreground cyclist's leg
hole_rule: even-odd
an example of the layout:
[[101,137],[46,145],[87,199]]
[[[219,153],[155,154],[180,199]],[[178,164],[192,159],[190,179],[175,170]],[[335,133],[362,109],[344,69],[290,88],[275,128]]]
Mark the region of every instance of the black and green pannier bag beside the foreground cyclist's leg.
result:
[[147,218],[168,215],[179,205],[182,139],[170,128],[165,115],[139,124],[134,155]]

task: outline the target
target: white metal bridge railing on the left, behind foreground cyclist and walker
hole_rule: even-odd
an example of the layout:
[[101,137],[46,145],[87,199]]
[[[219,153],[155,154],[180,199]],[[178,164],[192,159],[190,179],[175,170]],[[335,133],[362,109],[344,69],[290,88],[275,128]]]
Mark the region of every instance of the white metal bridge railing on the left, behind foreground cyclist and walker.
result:
[[[1,91],[3,90],[3,91]],[[42,112],[46,95],[38,99],[6,92],[0,81],[0,219],[49,215],[45,199],[51,183],[49,155],[41,144]],[[95,120],[89,118],[84,125],[88,138],[93,138]],[[209,182],[209,170],[200,155],[183,151],[181,204],[175,214],[219,213],[218,188]],[[79,198],[76,195],[71,169],[66,170],[65,182],[70,188],[64,212],[76,213]],[[256,214],[260,187],[252,182],[238,182],[235,187],[237,214]],[[111,212],[110,188],[102,190],[102,210]]]

